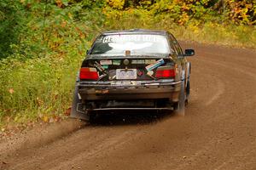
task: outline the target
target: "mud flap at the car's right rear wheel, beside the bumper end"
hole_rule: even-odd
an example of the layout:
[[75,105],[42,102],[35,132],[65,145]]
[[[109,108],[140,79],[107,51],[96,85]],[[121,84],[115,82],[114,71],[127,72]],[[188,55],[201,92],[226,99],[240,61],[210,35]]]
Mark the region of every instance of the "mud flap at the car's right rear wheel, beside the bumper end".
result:
[[184,88],[184,81],[181,83],[181,90],[178,98],[178,102],[174,106],[174,114],[177,116],[185,116],[185,88]]

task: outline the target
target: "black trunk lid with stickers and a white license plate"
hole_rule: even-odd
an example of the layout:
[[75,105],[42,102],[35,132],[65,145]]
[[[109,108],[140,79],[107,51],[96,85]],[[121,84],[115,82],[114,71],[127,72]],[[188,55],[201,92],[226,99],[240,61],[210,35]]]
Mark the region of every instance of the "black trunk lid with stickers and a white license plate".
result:
[[155,79],[157,68],[174,67],[174,61],[169,58],[115,58],[115,59],[85,59],[82,67],[96,68],[98,81],[140,81]]

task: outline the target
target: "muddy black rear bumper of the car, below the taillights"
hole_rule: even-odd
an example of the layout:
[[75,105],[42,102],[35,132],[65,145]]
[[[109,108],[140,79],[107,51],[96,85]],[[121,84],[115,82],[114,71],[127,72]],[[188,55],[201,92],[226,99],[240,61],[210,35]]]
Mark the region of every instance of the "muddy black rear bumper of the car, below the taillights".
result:
[[173,80],[126,82],[79,82],[82,100],[169,99],[178,101],[181,82]]

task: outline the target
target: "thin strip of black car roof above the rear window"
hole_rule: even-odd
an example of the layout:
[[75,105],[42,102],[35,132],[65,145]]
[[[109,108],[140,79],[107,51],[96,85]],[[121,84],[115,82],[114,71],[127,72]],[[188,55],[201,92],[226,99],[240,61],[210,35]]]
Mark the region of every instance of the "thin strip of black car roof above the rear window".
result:
[[148,30],[148,29],[131,29],[131,30],[120,30],[120,31],[103,31],[102,35],[113,35],[113,34],[157,34],[157,35],[167,35],[167,31],[161,30]]

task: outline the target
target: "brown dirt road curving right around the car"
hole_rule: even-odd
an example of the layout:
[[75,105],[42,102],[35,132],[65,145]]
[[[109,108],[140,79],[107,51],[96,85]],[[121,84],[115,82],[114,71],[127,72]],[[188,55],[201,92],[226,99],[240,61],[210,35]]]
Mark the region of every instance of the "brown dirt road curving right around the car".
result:
[[[256,53],[183,42],[186,47],[195,48],[196,56],[189,58],[191,98],[185,117],[100,116],[95,124],[73,130],[65,122],[27,134],[32,141],[23,140],[21,149],[0,144],[0,168],[255,170]],[[3,150],[4,144],[12,152]]]

